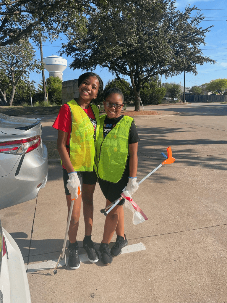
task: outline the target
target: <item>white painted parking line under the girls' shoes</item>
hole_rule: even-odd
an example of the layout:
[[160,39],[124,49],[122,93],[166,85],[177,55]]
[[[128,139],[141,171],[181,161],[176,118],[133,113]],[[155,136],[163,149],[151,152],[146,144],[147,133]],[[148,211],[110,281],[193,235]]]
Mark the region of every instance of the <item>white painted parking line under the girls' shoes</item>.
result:
[[[121,254],[127,254],[130,252],[135,252],[135,251],[140,251],[140,250],[145,250],[145,249],[146,249],[146,247],[143,245],[143,243],[140,242],[137,244],[127,245],[126,247],[122,248]],[[87,258],[87,254],[80,255],[80,260],[81,260],[81,262],[89,261]],[[58,259],[29,264],[28,272],[53,269],[53,268],[55,268],[57,261],[58,261]],[[66,258],[66,263],[67,262],[68,262],[68,258]],[[65,265],[65,261],[61,260],[58,264],[58,268],[62,267],[63,265]],[[25,267],[27,267],[27,265],[25,265]]]

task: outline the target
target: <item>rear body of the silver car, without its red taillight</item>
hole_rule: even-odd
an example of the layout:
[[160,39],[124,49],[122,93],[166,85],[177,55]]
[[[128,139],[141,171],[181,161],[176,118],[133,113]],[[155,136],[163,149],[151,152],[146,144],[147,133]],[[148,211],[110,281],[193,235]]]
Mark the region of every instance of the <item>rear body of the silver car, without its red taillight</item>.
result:
[[[0,142],[13,142],[41,134],[41,119],[0,113]],[[48,154],[42,139],[37,148],[23,155],[0,152],[0,209],[34,199],[40,188],[45,186],[47,175]]]

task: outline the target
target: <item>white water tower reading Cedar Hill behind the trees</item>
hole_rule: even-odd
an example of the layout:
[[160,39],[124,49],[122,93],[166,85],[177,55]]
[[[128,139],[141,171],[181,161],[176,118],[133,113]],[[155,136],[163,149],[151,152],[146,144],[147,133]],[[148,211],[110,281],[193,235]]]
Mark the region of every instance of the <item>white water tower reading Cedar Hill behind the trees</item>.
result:
[[49,76],[59,77],[62,80],[62,72],[67,68],[67,60],[57,55],[43,58],[44,68],[49,72]]

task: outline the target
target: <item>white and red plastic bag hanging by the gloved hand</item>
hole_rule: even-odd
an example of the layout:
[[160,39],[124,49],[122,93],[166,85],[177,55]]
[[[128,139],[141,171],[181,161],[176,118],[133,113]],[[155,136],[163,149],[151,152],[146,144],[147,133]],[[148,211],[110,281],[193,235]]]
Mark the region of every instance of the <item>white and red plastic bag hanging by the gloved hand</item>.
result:
[[129,194],[129,191],[124,190],[121,196],[125,199],[125,207],[129,208],[133,212],[133,224],[137,225],[148,220],[147,216],[141,210],[141,208],[133,201]]

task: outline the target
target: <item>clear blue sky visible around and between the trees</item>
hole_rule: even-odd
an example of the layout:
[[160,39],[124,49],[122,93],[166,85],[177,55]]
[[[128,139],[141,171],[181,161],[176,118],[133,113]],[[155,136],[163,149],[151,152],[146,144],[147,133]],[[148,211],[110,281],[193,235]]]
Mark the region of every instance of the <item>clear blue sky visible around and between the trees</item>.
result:
[[[207,28],[211,25],[214,25],[210,32],[206,35],[206,46],[201,45],[203,55],[210,57],[216,61],[215,65],[204,64],[198,65],[197,71],[198,75],[193,76],[191,73],[186,73],[186,87],[191,87],[193,85],[201,85],[206,82],[210,82],[213,79],[218,78],[227,78],[227,2],[224,0],[201,0],[201,1],[187,1],[187,0],[178,0],[176,2],[177,8],[183,10],[187,4],[191,6],[195,5],[197,8],[201,9],[201,12],[206,17],[201,23],[200,26]],[[57,41],[54,41],[52,44],[49,41],[43,43],[43,57],[51,55],[59,55],[58,51],[61,48],[61,43],[66,42],[64,35],[61,35],[62,41],[59,38]],[[40,50],[34,45],[36,49],[37,58],[40,58]],[[72,62],[71,57],[63,56],[67,59],[67,64],[69,65]],[[106,68],[96,68],[95,72],[100,75],[103,79],[104,86],[108,80],[113,79],[113,75]],[[73,70],[67,67],[63,72],[63,81],[77,79],[81,75],[82,70],[77,69]],[[45,78],[48,78],[49,73],[45,71]],[[34,80],[37,83],[40,83],[42,79],[41,74],[31,72],[30,81]],[[127,78],[126,78],[127,79]],[[162,82],[176,82],[183,85],[184,83],[184,74],[179,74],[172,78],[162,77]],[[127,79],[129,82],[130,80]]]

